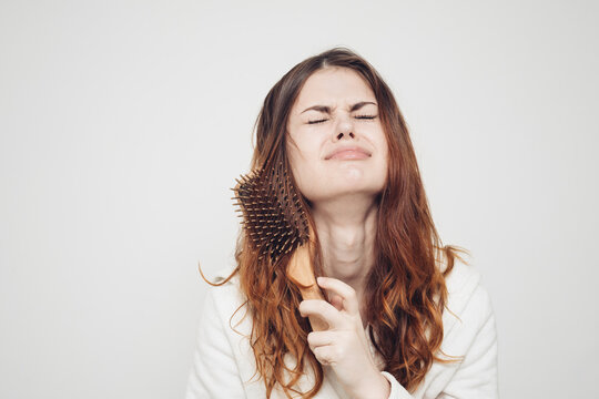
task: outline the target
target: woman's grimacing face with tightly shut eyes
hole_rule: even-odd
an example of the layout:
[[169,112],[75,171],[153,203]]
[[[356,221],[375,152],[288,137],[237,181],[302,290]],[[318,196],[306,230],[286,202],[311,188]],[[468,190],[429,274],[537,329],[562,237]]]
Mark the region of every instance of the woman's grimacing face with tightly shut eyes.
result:
[[287,154],[298,188],[318,202],[379,193],[387,177],[387,140],[366,81],[347,68],[313,73],[287,123]]

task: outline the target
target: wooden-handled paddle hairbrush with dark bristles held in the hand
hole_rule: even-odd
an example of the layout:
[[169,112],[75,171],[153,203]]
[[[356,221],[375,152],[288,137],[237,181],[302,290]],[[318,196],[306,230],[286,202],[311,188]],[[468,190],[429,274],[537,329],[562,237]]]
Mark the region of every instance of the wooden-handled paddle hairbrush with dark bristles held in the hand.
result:
[[[300,201],[300,193],[292,184],[282,163],[261,167],[241,175],[233,190],[234,205],[241,212],[242,225],[251,238],[258,259],[270,257],[276,263],[291,254],[286,274],[302,294],[303,299],[323,299],[312,266],[314,234]],[[315,331],[327,329],[326,321],[309,316]]]

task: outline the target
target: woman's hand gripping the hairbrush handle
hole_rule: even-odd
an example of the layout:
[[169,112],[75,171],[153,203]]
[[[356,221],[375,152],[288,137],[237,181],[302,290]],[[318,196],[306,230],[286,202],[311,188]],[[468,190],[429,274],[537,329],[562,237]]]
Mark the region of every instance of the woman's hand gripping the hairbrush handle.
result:
[[318,277],[317,283],[328,293],[331,304],[321,299],[300,304],[302,316],[314,315],[328,324],[327,330],[307,336],[314,356],[322,365],[333,368],[353,398],[388,398],[390,385],[370,356],[356,291],[336,278]]

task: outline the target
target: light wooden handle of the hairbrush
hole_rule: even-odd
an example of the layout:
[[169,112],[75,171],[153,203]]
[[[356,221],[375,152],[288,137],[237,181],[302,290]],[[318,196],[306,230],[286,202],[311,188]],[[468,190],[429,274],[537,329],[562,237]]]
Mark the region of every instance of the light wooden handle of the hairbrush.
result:
[[[316,277],[314,277],[307,243],[297,247],[293,253],[287,268],[287,277],[300,288],[303,299],[326,300],[318,284],[316,284]],[[314,331],[328,329],[328,324],[319,317],[308,316],[308,319]]]

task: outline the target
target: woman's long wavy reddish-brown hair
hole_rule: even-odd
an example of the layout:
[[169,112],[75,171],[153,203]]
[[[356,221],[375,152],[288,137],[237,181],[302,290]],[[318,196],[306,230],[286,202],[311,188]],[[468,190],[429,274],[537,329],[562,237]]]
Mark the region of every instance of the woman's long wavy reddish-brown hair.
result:
[[[264,100],[254,125],[256,144],[252,168],[282,162],[291,171],[286,153],[291,109],[306,80],[329,66],[357,72],[369,84],[378,102],[388,144],[388,174],[377,197],[375,264],[366,276],[364,308],[370,326],[368,334],[385,360],[385,370],[407,390],[414,391],[433,361],[455,361],[438,354],[443,354],[445,277],[451,270],[455,257],[464,262],[457,252],[467,252],[441,246],[409,133],[390,89],[366,60],[347,48],[334,48],[304,60],[292,68]],[[308,223],[314,227],[307,198],[302,201],[308,209]],[[315,228],[314,232],[317,235]],[[443,256],[445,268],[439,267]],[[265,383],[267,397],[277,385],[290,398],[290,391],[301,393],[302,398],[314,397],[323,385],[323,368],[307,344],[311,329],[307,319],[297,310],[302,301],[300,290],[286,277],[288,257],[275,263],[267,256],[258,259],[250,237],[242,231],[235,259],[237,266],[225,282],[238,273],[240,287],[246,297],[244,305],[253,319],[250,340],[256,374]],[[322,249],[316,239],[313,259],[316,275],[323,275],[322,263]],[[288,362],[287,357],[295,362]],[[306,365],[314,371],[314,387],[300,392],[295,385]]]

